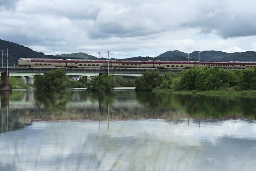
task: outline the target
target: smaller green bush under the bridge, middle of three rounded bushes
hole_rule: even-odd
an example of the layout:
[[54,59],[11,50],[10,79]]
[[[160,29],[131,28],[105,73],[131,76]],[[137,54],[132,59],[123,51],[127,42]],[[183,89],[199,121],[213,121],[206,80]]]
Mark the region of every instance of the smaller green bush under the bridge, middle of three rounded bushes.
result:
[[111,91],[116,87],[115,77],[113,75],[102,74],[100,77],[93,78],[87,86],[87,90],[93,91]]

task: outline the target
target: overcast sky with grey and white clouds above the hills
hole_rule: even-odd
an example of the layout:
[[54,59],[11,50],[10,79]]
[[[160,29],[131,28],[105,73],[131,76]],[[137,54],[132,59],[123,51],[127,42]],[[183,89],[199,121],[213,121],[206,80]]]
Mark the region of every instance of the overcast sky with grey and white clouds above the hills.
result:
[[255,6],[255,0],[0,0],[0,39],[52,55],[256,51]]

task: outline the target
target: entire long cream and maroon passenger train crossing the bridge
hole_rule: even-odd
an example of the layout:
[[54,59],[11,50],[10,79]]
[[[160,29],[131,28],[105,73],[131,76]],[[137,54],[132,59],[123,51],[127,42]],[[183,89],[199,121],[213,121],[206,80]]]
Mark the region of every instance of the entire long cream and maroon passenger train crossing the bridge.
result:
[[[18,66],[30,67],[83,67],[105,68],[107,60],[63,60],[63,59],[31,59],[20,58]],[[255,67],[256,62],[200,62],[201,67],[240,68]],[[109,60],[111,68],[192,68],[199,67],[198,61],[115,61]]]

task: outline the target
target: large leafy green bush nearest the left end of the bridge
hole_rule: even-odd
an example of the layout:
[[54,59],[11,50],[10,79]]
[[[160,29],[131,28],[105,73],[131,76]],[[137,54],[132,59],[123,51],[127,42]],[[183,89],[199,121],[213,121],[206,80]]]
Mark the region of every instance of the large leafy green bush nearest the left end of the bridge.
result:
[[70,80],[67,78],[64,69],[54,69],[43,76],[35,75],[34,85],[37,90],[60,91],[70,87]]

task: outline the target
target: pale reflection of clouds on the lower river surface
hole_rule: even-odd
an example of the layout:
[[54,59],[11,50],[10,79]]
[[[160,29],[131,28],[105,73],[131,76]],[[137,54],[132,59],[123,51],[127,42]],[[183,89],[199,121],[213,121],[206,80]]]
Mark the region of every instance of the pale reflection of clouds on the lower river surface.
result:
[[253,170],[255,141],[244,120],[35,122],[1,134],[0,154],[19,170]]

